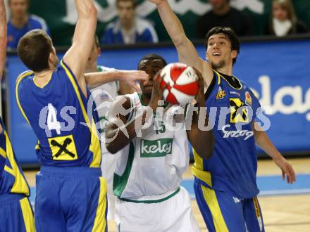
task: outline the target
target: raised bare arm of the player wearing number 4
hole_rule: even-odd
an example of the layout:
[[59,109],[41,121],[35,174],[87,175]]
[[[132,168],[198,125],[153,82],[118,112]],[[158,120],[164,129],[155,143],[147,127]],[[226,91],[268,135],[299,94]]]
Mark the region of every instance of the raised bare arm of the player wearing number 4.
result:
[[78,18],[73,35],[73,43],[63,56],[80,85],[85,84],[85,65],[89,58],[97,25],[97,10],[93,0],[75,0]]

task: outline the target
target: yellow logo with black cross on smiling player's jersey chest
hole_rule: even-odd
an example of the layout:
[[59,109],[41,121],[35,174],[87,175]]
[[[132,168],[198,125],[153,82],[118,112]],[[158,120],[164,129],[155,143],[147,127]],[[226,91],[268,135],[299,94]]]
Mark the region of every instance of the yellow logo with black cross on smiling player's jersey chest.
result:
[[230,122],[249,122],[247,107],[240,98],[230,98]]

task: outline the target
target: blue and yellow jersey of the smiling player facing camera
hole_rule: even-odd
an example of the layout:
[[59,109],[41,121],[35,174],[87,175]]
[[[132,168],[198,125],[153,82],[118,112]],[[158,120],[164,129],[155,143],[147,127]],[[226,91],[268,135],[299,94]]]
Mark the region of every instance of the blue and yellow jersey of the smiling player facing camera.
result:
[[217,191],[237,198],[254,197],[259,190],[252,122],[260,107],[258,99],[237,78],[213,71],[206,107],[209,124],[214,124],[214,150],[209,159],[202,159],[194,151],[194,176]]

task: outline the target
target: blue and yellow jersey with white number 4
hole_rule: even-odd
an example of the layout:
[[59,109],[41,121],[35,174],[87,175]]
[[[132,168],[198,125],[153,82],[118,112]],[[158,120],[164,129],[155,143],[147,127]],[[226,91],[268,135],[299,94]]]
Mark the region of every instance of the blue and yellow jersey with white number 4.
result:
[[44,86],[35,83],[32,71],[23,72],[16,82],[16,100],[35,131],[42,165],[100,167],[99,119],[94,101],[88,89],[87,97],[82,94],[63,60]]

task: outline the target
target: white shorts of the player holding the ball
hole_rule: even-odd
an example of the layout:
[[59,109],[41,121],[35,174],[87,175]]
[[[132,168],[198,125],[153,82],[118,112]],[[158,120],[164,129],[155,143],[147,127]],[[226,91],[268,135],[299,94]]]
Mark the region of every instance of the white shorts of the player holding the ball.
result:
[[197,232],[190,195],[185,188],[158,203],[116,200],[115,221],[121,232]]

